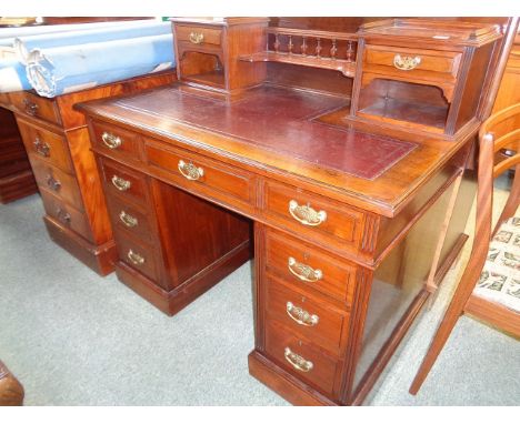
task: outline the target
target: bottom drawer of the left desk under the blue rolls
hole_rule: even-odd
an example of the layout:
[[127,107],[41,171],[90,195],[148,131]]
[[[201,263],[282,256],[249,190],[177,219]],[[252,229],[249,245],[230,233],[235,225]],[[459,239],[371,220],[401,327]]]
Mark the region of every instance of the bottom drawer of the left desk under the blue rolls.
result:
[[47,189],[40,189],[40,194],[43,200],[43,208],[49,216],[80,234],[83,239],[93,242],[89,222],[82,212],[63,202]]

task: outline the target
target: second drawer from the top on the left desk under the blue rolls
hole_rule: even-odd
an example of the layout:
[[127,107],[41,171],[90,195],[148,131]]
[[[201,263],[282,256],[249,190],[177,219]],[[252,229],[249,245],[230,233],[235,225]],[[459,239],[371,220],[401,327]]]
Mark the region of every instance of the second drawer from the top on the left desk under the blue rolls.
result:
[[51,131],[29,124],[26,121],[18,120],[18,128],[29,153],[60,168],[61,170],[73,173],[72,162],[69,153],[69,145],[64,137]]

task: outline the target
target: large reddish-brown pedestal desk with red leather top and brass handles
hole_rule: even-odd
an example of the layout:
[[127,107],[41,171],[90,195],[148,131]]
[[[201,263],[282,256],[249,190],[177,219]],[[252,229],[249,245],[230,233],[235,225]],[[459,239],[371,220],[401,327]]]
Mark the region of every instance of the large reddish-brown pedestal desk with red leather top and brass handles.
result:
[[[267,22],[176,24],[179,49],[212,52],[229,46],[222,40],[234,24]],[[424,52],[409,38],[399,47],[397,36],[380,46],[380,30],[368,26],[356,39],[357,65],[340,63],[356,72],[351,95],[317,90],[323,74],[270,67],[279,51],[230,59],[244,67],[239,74],[267,64],[256,70],[263,81],[241,90],[220,64],[200,77],[180,53],[176,84],[78,107],[101,172],[119,279],[174,314],[253,254],[250,373],[294,404],[360,404],[466,241],[472,196],[462,175],[479,103],[460,100],[482,87],[460,83],[471,71],[484,84],[481,64],[492,60],[498,36],[483,31],[484,50],[472,50],[483,55],[468,57],[467,46]],[[268,49],[269,40],[281,49],[283,31],[266,29]],[[297,32],[289,33],[294,44]],[[220,58],[226,65],[226,51]],[[281,60],[330,65],[301,54]],[[399,69],[421,61],[427,71]],[[294,83],[303,77],[312,89]],[[220,87],[201,88],[204,78]],[[403,78],[416,81],[411,91]],[[431,85],[417,91],[422,78],[440,80],[450,103],[442,107]]]

